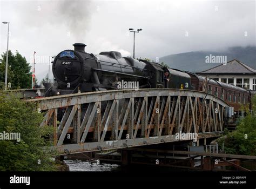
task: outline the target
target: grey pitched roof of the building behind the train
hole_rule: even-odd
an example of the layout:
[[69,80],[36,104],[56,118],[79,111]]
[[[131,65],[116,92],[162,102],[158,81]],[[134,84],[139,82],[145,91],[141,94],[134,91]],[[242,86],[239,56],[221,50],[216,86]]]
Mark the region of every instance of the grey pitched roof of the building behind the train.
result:
[[256,74],[256,70],[237,59],[230,60],[226,65],[221,64],[214,68],[198,72],[199,74]]

